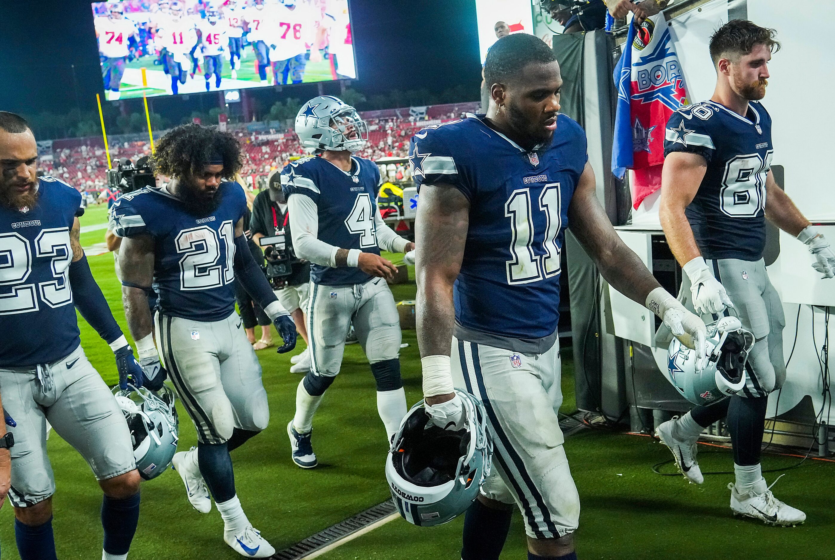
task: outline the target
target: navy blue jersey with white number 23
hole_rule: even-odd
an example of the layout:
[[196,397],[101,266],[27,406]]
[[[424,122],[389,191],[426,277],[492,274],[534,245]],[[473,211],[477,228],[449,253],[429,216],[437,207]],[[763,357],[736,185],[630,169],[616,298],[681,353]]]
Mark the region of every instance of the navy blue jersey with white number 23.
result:
[[69,230],[83,213],[81,193],[48,176],[38,182],[35,208],[0,206],[0,368],[51,363],[81,343]]

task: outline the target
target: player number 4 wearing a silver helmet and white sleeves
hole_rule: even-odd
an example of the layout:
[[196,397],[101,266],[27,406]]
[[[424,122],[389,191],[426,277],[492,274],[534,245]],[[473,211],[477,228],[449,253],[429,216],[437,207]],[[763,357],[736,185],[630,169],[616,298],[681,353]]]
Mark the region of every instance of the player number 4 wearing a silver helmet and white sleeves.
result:
[[397,272],[380,249],[406,253],[414,243],[380,217],[377,165],[352,155],[367,142],[366,123],[350,105],[329,95],[306,102],[296,116],[301,145],[317,154],[287,165],[287,198],[296,256],[311,262],[307,333],[311,371],[296,390],[296,416],[287,425],[291,457],[316,467],[313,415],[342,365],[352,324],[377,382],[377,412],[391,439],[406,415],[400,378],[400,319],[386,283]]

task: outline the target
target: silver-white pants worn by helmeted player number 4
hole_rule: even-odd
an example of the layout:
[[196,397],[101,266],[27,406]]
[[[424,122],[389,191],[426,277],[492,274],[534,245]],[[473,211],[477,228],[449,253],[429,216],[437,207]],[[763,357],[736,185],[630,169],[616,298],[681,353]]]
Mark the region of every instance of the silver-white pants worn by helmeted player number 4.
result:
[[355,286],[312,284],[307,333],[313,374],[333,377],[339,373],[352,323],[369,363],[399,357],[400,316],[385,280],[374,278]]

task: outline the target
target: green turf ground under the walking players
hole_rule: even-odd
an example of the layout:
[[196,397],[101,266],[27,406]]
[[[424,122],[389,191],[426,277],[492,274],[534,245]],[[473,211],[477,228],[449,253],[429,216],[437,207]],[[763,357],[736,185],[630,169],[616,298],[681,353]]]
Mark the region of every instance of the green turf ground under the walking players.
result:
[[[89,208],[82,225],[104,223],[106,208]],[[85,237],[86,236],[86,237]],[[99,243],[104,230],[83,234],[82,243]],[[89,258],[94,276],[127,333],[119,284],[109,254]],[[413,277],[412,277],[413,278]],[[414,285],[392,287],[397,300],[412,299]],[[113,354],[93,329],[79,318],[84,349],[108,383],[115,383]],[[274,333],[274,338],[277,335]],[[300,339],[301,341],[301,339]],[[414,331],[401,353],[409,403],[420,396],[419,356]],[[301,346],[294,353],[301,351]],[[564,352],[564,412],[574,409],[574,375],[570,353]],[[358,345],[346,348],[337,382],[319,409],[314,444],[320,467],[296,468],[289,459],[286,423],[292,417],[296,385],[301,376],[289,373],[288,356],[275,348],[259,353],[270,399],[270,426],[233,453],[240,501],[253,524],[276,549],[308,537],[389,494],[383,475],[387,450],[377,417],[374,382]],[[195,430],[180,408],[180,448],[195,445]],[[102,529],[101,493],[83,459],[54,433],[48,448],[58,491],[54,498],[54,529],[58,557],[98,560]],[[650,470],[669,457],[652,438],[586,430],[565,444],[582,502],[577,532],[580,558],[655,560],[671,558],[790,560],[835,558],[835,465],[807,461],[787,471],[774,488],[777,497],[807,512],[800,527],[766,527],[731,517],[725,486],[731,475],[708,476],[702,486],[681,477],[661,477]],[[731,455],[701,448],[703,471],[726,471]],[[767,456],[765,468],[797,463],[796,458]],[[667,467],[669,472],[670,466]],[[777,476],[767,474],[769,483]],[[3,558],[18,558],[14,547],[13,512],[0,510]],[[412,527],[397,519],[321,556],[324,560],[457,560],[462,520],[442,527]],[[196,512],[185,498],[173,471],[143,483],[139,530],[131,560],[232,560],[239,558],[221,539],[223,524],[215,509]],[[521,517],[514,525],[503,558],[521,560],[524,552]]]

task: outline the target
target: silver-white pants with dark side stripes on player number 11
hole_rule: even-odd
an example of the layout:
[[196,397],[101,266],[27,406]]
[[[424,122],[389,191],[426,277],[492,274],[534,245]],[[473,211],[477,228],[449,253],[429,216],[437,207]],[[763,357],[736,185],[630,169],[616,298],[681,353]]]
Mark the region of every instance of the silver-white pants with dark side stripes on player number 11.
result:
[[493,436],[493,472],[481,491],[519,506],[532,538],[558,538],[579,523],[579,494],[563,449],[559,343],[523,354],[453,338],[453,383],[473,394]]

